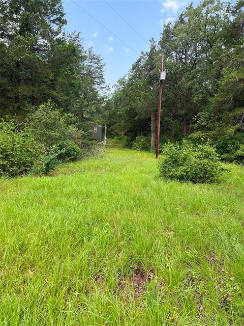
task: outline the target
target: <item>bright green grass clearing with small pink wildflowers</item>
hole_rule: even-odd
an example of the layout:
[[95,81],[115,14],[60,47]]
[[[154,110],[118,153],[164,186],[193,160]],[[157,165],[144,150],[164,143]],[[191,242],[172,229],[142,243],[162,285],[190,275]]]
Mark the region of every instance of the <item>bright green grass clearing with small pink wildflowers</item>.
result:
[[0,324],[243,325],[244,170],[229,167],[221,184],[165,181],[153,154],[108,149],[1,180]]

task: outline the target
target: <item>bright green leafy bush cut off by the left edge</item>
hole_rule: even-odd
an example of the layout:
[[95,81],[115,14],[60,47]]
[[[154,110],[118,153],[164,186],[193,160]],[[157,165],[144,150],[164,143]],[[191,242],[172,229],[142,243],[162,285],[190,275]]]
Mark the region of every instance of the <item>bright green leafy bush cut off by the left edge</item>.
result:
[[16,176],[38,169],[45,148],[28,128],[21,130],[14,122],[0,123],[0,176]]

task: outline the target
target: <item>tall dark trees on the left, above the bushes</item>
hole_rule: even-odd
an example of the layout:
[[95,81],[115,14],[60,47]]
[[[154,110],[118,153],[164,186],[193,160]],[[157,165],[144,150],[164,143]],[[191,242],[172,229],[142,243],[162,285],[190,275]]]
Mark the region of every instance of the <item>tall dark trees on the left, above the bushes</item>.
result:
[[26,105],[49,98],[79,122],[100,110],[102,58],[80,34],[65,33],[62,0],[12,0],[0,5],[1,115],[26,117]]

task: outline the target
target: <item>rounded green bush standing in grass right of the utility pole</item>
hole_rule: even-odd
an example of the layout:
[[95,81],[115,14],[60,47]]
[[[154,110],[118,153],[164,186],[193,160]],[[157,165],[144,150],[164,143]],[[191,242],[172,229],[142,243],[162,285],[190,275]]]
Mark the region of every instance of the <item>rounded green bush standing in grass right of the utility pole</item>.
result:
[[163,147],[159,170],[163,177],[193,183],[217,182],[224,171],[214,147],[186,141]]

